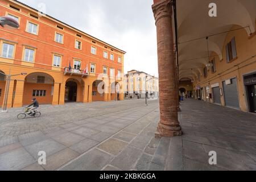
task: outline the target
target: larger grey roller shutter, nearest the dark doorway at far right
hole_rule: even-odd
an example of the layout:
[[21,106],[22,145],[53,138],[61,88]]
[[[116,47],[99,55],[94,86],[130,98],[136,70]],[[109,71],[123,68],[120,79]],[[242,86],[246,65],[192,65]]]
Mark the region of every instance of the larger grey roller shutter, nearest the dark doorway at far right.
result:
[[226,85],[226,82],[223,82],[225,104],[228,107],[234,107],[240,109],[239,98],[237,92],[237,78],[231,79],[231,84]]

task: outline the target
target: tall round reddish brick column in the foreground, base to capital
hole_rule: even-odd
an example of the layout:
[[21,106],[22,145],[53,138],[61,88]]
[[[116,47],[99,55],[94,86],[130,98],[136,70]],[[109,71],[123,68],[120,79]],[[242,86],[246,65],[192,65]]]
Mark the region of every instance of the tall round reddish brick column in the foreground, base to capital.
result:
[[156,137],[175,137],[182,134],[178,121],[177,80],[172,31],[171,0],[152,6],[158,39],[160,122]]

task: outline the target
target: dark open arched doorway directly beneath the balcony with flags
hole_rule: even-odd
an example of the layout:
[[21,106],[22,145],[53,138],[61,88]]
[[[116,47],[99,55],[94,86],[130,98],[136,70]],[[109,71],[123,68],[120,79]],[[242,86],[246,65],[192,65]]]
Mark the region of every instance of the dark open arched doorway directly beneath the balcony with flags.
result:
[[75,81],[68,81],[65,85],[65,102],[77,101],[77,83]]

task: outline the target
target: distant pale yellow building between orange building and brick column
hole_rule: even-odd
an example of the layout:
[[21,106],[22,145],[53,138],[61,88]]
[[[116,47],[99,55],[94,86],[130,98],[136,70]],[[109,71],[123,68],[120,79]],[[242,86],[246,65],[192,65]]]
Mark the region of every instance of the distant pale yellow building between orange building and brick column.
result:
[[158,98],[158,78],[147,73],[132,70],[125,75],[124,79],[125,98]]

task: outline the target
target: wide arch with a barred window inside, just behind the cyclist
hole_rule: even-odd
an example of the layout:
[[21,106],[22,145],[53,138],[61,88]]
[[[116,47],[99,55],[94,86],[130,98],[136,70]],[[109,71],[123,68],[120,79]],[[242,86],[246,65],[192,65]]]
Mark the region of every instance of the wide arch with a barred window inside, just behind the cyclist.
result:
[[31,98],[39,104],[52,104],[54,79],[47,73],[35,72],[26,76],[23,91],[23,105],[31,104]]

